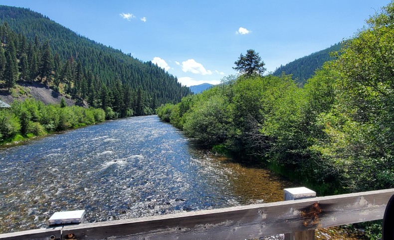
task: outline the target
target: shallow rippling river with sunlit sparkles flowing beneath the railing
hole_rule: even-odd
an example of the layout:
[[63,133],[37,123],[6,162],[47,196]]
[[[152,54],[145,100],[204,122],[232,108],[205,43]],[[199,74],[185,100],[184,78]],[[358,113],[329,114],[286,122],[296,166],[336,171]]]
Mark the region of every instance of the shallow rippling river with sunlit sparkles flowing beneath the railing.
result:
[[113,120],[0,148],[0,233],[281,201],[294,187],[265,169],[198,149],[157,116]]

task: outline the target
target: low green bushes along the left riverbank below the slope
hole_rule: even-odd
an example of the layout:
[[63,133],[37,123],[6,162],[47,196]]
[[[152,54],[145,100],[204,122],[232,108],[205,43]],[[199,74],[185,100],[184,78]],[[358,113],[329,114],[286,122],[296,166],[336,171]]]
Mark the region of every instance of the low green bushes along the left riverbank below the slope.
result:
[[0,144],[104,120],[102,109],[44,105],[34,99],[15,101],[11,108],[0,109]]

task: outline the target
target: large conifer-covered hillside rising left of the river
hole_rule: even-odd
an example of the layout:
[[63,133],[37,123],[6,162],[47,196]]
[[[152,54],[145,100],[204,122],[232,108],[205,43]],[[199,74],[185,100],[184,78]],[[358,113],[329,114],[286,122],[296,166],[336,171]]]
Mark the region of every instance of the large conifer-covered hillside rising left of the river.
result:
[[[151,61],[143,62],[78,35],[40,13],[0,5],[0,18],[4,50],[10,40],[16,48],[19,81],[43,81],[59,93],[93,107],[110,107],[120,116],[130,110],[133,115],[151,114],[157,106],[179,102],[191,93]],[[44,51],[51,56],[48,77],[40,72]],[[39,62],[31,76],[21,76],[23,55],[30,67],[34,64],[31,56],[35,64]]]

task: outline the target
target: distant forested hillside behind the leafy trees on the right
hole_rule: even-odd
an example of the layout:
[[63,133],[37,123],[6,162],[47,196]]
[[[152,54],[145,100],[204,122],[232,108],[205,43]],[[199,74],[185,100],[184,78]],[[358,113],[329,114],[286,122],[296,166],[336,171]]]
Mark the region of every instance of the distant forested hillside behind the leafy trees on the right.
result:
[[305,84],[306,80],[311,78],[315,71],[323,66],[323,63],[333,60],[331,52],[341,50],[342,43],[336,43],[324,50],[312,53],[308,56],[298,58],[286,65],[280,65],[273,75],[280,76],[283,72],[293,74],[293,79],[300,84]]

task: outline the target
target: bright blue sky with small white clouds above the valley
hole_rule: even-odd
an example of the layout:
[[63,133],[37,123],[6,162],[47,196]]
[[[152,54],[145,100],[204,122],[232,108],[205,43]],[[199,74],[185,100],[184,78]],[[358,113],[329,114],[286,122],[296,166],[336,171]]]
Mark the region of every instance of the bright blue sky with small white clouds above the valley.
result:
[[390,0],[1,0],[153,61],[184,85],[216,84],[254,49],[281,64],[352,37]]

